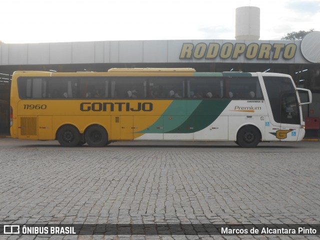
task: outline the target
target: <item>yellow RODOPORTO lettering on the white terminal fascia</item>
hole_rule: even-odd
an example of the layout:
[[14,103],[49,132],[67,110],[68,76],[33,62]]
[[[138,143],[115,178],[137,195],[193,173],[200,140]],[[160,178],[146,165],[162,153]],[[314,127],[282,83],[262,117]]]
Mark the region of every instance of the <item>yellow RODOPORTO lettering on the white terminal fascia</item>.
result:
[[280,57],[288,60],[295,55],[297,46],[294,43],[231,43],[225,42],[219,44],[217,42],[204,43],[199,42],[183,43],[180,59],[237,59],[244,55],[246,59],[279,59]]

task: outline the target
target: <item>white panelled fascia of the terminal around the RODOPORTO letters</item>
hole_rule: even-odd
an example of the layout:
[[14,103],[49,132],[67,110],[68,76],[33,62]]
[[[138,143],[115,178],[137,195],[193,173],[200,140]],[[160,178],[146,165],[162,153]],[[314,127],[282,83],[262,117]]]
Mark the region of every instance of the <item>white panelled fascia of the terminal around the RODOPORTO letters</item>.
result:
[[[236,58],[203,57],[180,58],[183,44],[191,44],[196,51],[198,44],[215,43],[222,49],[223,44],[256,43],[273,46],[275,43],[296,45],[293,58],[280,57],[273,59],[273,50],[268,58],[248,59],[245,52]],[[310,63],[300,51],[301,41],[288,40],[135,40],[135,41],[88,41],[88,42],[55,42],[0,44],[0,65],[32,65],[32,64],[72,64],[72,63],[157,63],[157,62],[238,62],[238,63]],[[234,49],[233,49],[234,50]],[[233,51],[232,50],[232,51]],[[221,50],[222,51],[222,50]],[[319,50],[320,51],[320,50]]]

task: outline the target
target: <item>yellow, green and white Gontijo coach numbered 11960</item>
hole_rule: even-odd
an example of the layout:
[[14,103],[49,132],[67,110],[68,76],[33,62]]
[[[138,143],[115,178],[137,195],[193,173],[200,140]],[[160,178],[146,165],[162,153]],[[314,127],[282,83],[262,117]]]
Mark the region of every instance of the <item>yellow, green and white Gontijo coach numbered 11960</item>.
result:
[[[301,103],[298,90],[309,101]],[[311,92],[280,73],[111,68],[107,72],[15,71],[12,137],[62,146],[118,140],[299,141]]]

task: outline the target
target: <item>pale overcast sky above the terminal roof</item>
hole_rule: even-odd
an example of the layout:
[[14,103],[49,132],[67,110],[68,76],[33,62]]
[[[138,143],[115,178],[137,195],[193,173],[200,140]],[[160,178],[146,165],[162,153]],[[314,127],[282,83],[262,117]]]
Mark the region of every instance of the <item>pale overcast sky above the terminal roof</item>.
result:
[[1,0],[4,43],[235,39],[235,8],[260,8],[260,40],[320,30],[320,0]]

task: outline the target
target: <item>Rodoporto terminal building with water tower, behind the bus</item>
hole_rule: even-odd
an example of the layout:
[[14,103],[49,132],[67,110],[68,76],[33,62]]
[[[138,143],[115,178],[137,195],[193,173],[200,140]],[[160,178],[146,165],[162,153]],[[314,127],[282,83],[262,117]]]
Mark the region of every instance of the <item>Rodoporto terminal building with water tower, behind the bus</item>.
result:
[[[320,31],[302,40],[258,40],[259,8],[236,9],[235,39],[0,44],[0,131],[9,124],[15,70],[107,71],[113,67],[192,67],[197,72],[278,72],[312,92],[304,117],[320,117]],[[303,96],[302,96],[303,97]]]

